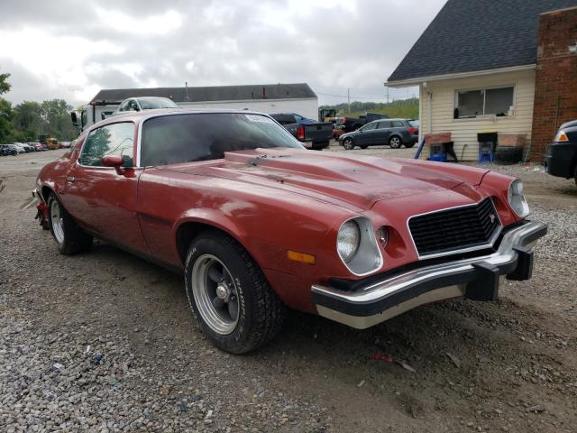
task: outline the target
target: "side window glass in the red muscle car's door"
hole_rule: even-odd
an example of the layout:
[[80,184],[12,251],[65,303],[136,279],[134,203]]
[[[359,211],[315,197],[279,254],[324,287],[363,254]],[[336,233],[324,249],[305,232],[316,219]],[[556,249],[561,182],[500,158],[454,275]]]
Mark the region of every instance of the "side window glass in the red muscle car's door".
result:
[[101,167],[105,155],[118,155],[124,159],[124,167],[133,167],[134,124],[107,124],[88,135],[78,161],[82,165]]

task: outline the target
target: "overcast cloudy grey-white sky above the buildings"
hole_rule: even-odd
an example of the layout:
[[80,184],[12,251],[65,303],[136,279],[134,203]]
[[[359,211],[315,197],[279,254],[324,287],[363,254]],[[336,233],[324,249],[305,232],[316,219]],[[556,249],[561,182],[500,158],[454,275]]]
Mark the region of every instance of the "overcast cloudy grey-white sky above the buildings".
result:
[[[320,104],[382,83],[445,0],[2,0],[13,103],[87,103],[101,88],[307,82]],[[390,90],[390,97],[416,89]]]

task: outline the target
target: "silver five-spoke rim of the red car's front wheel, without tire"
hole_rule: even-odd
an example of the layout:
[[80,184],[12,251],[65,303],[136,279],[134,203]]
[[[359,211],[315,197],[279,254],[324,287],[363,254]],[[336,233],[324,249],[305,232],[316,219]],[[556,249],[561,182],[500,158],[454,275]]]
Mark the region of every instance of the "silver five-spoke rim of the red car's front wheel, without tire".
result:
[[240,316],[236,283],[224,263],[212,254],[203,254],[192,267],[192,293],[198,313],[215,333],[226,336],[234,331]]

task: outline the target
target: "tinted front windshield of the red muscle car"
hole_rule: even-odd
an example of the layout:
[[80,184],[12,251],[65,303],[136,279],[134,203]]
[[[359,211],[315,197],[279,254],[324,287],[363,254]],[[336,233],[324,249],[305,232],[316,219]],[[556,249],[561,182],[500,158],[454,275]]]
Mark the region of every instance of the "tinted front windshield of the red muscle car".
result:
[[143,167],[224,158],[224,152],[257,148],[304,149],[265,115],[198,113],[161,115],[142,125]]

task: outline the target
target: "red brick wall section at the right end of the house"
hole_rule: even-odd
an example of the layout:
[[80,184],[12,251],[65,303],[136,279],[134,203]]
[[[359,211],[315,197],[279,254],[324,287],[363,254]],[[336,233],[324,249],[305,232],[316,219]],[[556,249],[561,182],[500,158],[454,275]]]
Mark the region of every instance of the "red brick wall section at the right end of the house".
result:
[[[570,47],[575,47],[572,51]],[[541,14],[531,160],[543,161],[559,125],[577,119],[577,7]]]

